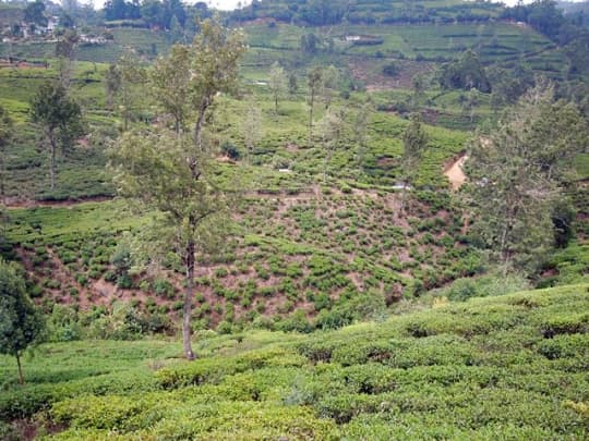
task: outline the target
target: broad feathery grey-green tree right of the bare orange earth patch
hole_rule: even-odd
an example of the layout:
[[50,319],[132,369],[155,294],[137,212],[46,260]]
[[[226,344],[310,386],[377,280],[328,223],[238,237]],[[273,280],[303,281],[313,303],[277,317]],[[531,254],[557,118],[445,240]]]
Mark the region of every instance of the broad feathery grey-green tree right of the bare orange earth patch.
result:
[[472,142],[465,198],[473,234],[504,271],[533,270],[553,245],[552,213],[573,161],[587,151],[588,127],[575,106],[540,83],[490,137]]

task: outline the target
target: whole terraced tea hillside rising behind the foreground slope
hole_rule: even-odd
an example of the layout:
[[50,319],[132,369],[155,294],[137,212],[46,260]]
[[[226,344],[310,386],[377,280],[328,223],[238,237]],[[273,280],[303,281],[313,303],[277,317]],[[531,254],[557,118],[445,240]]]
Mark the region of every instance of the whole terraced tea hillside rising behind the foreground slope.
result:
[[[256,4],[228,17],[242,26],[249,50],[240,63],[239,93],[219,98],[215,143],[223,149],[219,173],[227,184],[238,183],[243,200],[232,217],[233,240],[219,256],[200,258],[195,327],[221,324],[225,332],[256,321],[279,329],[338,327],[365,317],[363,303],[394,306],[488,271],[484,253],[472,246],[465,208],[443,172],[464,161],[469,131],[492,126],[509,101],[496,101],[489,91],[443,87],[436,78],[447,62],[472,50],[490,77],[495,72],[503,79],[513,71],[560,81],[566,75],[563,49],[531,26],[502,20],[501,9],[491,3],[417,2],[407,9],[392,2],[390,9],[353,2],[347,20],[325,15],[322,20],[329,23],[309,22],[322,15],[306,7],[289,9],[293,15],[286,20],[279,12],[286,3]],[[353,19],[359,11],[374,20]],[[250,13],[255,16],[243,15]],[[172,40],[161,29],[106,25],[96,34],[108,32],[112,40],[76,48],[70,95],[84,109],[87,135],[58,155],[55,188],[48,185],[47,151],[28,115],[37,88],[59,77],[55,44],[3,46],[20,57],[43,56],[46,62],[0,70],[0,105],[19,127],[5,151],[3,191],[11,210],[3,250],[25,266],[31,293],[46,314],[68,306],[81,321],[93,321],[88,317],[100,317],[122,302],[143,315],[143,331],[173,332],[182,304],[180,262],[164,259],[160,273],[118,268],[113,259],[129,253],[131,237],[148,224],[151,213],[137,216],[121,201],[105,200],[116,193],[106,148],[123,131],[123,112],[133,127],[158,119],[141,84],[129,86],[130,103],[120,96],[109,102],[107,63],[130,46],[147,68]],[[296,83],[280,97],[277,112],[267,86],[276,61]],[[526,68],[518,70],[520,63]],[[329,160],[322,134],[309,137],[306,76],[317,65],[333,65],[335,79],[322,94],[316,124],[332,106],[345,109],[347,125]],[[385,74],[385,68],[394,75]],[[422,76],[418,90],[414,78]],[[493,87],[500,79],[491,82]],[[260,111],[260,139],[250,155],[244,124],[252,106]],[[372,110],[361,146],[354,126],[365,106]],[[399,183],[408,172],[402,136],[414,111],[428,123],[428,149],[410,170],[417,188],[401,209],[406,195]],[[588,162],[579,158],[584,180]],[[546,259],[531,283],[586,278],[586,198],[574,188],[569,193],[578,212],[578,240]],[[79,205],[88,199],[94,203]]]

